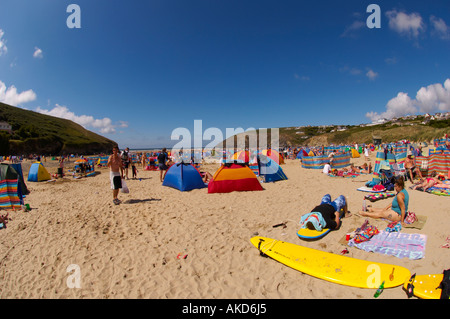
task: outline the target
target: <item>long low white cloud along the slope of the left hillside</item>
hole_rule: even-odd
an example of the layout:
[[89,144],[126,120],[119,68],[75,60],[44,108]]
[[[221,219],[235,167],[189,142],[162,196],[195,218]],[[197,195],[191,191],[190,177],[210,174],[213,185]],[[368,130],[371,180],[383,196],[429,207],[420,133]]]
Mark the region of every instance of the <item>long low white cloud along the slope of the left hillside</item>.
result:
[[[113,125],[110,118],[105,117],[103,119],[95,119],[90,115],[76,115],[74,112],[70,111],[67,106],[56,104],[56,106],[51,110],[45,110],[38,107],[36,112],[71,120],[86,129],[97,129],[102,134],[111,134],[116,132],[115,125]],[[122,121],[119,126],[127,127],[128,124]]]

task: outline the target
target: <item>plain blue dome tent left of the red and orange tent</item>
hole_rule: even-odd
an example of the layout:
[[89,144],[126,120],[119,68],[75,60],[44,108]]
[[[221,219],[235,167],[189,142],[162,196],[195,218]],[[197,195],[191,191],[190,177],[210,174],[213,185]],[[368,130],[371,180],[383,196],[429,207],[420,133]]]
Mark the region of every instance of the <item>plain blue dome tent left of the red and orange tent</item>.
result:
[[182,192],[207,187],[200,172],[188,163],[173,164],[167,170],[163,186],[173,187]]

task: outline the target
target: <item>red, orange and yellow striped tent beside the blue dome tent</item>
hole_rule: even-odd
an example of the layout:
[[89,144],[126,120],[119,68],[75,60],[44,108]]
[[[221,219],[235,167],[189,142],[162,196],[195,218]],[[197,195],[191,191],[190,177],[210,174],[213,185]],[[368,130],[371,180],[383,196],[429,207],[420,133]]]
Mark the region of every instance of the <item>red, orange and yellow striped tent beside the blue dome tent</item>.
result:
[[255,173],[248,166],[238,163],[223,164],[208,184],[208,193],[262,190]]

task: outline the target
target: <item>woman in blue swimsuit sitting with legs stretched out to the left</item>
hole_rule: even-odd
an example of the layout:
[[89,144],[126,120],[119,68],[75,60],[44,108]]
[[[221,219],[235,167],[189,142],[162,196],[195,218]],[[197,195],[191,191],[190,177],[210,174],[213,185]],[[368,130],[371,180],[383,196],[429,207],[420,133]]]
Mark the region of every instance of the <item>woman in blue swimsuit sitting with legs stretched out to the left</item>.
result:
[[394,189],[397,195],[392,200],[392,203],[386,208],[372,208],[368,211],[360,211],[359,214],[365,217],[385,218],[393,222],[405,221],[406,213],[408,212],[409,194],[405,189],[405,181],[403,177],[398,177],[395,180]]

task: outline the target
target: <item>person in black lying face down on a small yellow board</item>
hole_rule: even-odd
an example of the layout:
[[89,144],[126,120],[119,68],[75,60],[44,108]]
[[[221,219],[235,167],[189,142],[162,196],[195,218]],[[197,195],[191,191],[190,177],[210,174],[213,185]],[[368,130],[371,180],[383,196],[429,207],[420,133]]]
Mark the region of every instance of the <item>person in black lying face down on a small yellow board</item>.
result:
[[326,194],[322,197],[319,206],[314,207],[311,213],[302,216],[300,226],[318,231],[322,231],[324,228],[338,229],[341,226],[339,215],[341,209],[344,211],[343,217],[345,215],[349,216],[345,197],[341,195],[332,202],[331,196]]

